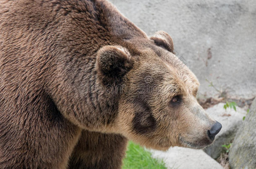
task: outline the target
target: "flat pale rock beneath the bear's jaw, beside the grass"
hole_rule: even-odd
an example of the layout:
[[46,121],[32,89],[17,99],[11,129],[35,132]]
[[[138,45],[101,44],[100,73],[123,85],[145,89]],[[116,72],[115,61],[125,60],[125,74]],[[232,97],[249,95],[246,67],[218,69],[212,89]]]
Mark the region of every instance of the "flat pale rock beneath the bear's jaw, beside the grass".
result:
[[168,151],[151,150],[152,157],[162,159],[167,169],[223,169],[202,150],[172,147]]

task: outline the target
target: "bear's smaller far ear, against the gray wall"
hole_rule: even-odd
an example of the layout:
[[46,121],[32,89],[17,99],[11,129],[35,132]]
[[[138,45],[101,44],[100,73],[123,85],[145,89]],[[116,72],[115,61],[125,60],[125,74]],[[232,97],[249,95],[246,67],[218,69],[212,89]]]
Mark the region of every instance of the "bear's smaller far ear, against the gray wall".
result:
[[172,38],[165,31],[157,31],[150,39],[153,40],[156,45],[174,53]]

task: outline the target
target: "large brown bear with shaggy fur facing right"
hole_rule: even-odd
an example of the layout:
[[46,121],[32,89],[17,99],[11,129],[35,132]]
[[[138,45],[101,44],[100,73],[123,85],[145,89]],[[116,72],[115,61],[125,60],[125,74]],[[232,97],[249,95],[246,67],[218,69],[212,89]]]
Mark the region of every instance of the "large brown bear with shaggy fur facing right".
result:
[[221,125],[170,36],[105,0],[0,0],[0,168],[119,169],[127,140],[211,144]]

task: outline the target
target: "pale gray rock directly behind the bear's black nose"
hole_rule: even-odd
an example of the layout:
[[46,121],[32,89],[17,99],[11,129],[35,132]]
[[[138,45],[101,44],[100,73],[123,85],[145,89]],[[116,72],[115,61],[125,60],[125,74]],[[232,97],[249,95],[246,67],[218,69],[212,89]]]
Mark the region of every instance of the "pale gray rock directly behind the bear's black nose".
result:
[[204,151],[214,159],[217,159],[220,153],[225,150],[222,145],[229,144],[229,142],[235,138],[236,132],[242,125],[243,116],[246,115],[246,111],[242,108],[236,107],[237,111],[231,108],[225,110],[223,106],[224,103],[219,103],[206,110],[207,114],[209,114],[212,119],[222,124],[222,129],[219,134],[215,136],[214,143],[204,149]]

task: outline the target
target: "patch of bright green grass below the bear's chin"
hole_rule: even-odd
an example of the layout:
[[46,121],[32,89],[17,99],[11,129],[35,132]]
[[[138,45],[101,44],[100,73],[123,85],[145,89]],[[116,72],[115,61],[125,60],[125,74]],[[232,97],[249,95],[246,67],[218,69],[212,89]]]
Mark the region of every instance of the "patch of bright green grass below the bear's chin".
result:
[[129,141],[123,169],[167,169],[163,161],[153,159],[151,153]]

